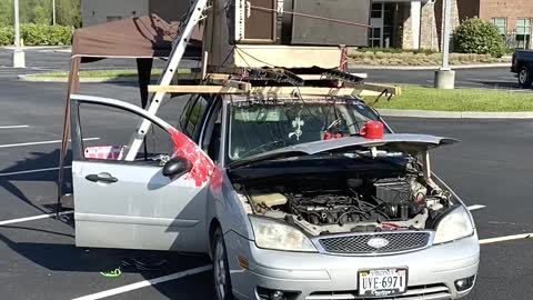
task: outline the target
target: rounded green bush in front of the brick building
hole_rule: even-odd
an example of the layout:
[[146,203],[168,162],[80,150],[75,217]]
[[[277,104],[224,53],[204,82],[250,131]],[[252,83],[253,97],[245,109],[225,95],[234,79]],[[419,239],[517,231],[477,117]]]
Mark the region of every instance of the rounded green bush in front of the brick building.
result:
[[500,58],[505,52],[497,28],[481,19],[464,20],[454,32],[456,52],[491,54]]

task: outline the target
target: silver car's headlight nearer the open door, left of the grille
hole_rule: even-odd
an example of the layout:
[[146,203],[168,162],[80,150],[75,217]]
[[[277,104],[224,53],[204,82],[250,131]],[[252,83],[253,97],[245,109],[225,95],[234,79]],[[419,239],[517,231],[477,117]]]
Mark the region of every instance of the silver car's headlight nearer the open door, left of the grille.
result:
[[252,216],[250,216],[250,221],[252,223],[253,234],[255,236],[255,244],[259,248],[316,252],[316,248],[314,248],[309,238],[296,228],[274,220]]

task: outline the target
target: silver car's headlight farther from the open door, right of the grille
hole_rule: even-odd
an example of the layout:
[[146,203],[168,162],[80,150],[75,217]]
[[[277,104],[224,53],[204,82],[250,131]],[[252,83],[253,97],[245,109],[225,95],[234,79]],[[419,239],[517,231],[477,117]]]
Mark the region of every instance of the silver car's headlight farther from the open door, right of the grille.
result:
[[433,243],[459,240],[472,234],[474,234],[474,226],[470,220],[469,212],[463,206],[457,206],[439,220]]

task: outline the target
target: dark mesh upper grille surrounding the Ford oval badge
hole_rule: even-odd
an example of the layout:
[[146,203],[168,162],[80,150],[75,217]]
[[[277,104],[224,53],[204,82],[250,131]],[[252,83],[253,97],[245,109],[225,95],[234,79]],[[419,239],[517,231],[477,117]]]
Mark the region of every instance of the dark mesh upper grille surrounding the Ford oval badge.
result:
[[[369,246],[371,239],[384,239],[389,243],[382,248]],[[429,232],[388,232],[319,239],[325,252],[339,254],[392,253],[416,250],[428,246]]]

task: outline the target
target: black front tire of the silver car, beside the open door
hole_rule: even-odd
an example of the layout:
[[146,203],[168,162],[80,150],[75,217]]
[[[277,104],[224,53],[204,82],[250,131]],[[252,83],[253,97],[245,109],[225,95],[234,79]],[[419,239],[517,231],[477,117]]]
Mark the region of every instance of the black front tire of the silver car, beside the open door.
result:
[[212,256],[213,256],[213,282],[214,296],[217,300],[232,300],[230,268],[228,263],[228,252],[225,251],[224,237],[222,230],[217,228],[213,233]]

